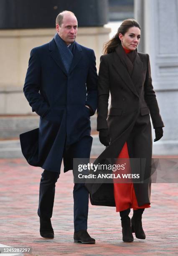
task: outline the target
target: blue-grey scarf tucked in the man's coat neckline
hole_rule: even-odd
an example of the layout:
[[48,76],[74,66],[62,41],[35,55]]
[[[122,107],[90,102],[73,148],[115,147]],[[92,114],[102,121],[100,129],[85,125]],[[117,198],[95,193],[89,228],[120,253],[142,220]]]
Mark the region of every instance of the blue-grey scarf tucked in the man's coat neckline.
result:
[[71,43],[69,47],[67,47],[66,43],[64,42],[64,40],[62,40],[62,38],[58,35],[58,33],[56,33],[56,35],[54,36],[54,40],[58,47],[59,54],[61,56],[66,72],[69,73],[69,69],[71,67],[71,63],[74,57],[73,54],[74,54],[75,41]]

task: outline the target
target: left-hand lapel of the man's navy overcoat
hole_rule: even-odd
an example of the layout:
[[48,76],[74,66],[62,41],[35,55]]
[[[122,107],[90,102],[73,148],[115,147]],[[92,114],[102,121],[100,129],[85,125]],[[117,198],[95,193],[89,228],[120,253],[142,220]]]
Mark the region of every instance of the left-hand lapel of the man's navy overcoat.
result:
[[62,62],[61,56],[59,54],[59,51],[58,51],[58,48],[56,46],[54,39],[49,42],[49,51],[50,51],[50,55],[53,58],[53,60],[62,69],[62,71],[67,75],[66,69]]

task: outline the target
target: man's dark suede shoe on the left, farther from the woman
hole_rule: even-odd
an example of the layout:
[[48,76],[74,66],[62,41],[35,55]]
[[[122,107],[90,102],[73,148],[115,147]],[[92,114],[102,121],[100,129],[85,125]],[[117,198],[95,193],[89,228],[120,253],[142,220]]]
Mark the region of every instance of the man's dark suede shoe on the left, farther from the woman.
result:
[[51,220],[43,220],[40,218],[40,235],[43,238],[53,239],[54,238],[54,231],[51,225]]

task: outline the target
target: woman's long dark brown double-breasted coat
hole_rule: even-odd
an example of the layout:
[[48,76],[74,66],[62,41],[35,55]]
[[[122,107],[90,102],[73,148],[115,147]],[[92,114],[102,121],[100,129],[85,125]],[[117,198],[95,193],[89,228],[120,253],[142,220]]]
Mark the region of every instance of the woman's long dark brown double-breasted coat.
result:
[[[97,158],[117,158],[124,143],[130,158],[146,159],[140,167],[143,183],[134,183],[138,205],[150,203],[152,135],[153,127],[163,127],[158,102],[153,90],[148,54],[137,53],[132,75],[127,71],[123,58],[127,58],[120,46],[113,53],[101,56],[99,67],[99,103],[97,130],[109,128],[110,145]],[[108,113],[109,92],[111,105]],[[149,115],[150,114],[150,115]],[[114,206],[113,184],[86,184],[93,205]]]

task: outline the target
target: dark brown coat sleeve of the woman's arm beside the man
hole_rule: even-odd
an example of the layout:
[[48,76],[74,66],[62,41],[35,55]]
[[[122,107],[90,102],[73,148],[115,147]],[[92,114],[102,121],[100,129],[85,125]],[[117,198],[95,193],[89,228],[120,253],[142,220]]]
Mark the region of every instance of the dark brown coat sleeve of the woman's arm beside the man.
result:
[[97,131],[107,129],[107,114],[109,100],[109,70],[104,56],[100,58],[98,76],[98,109],[97,109]]

